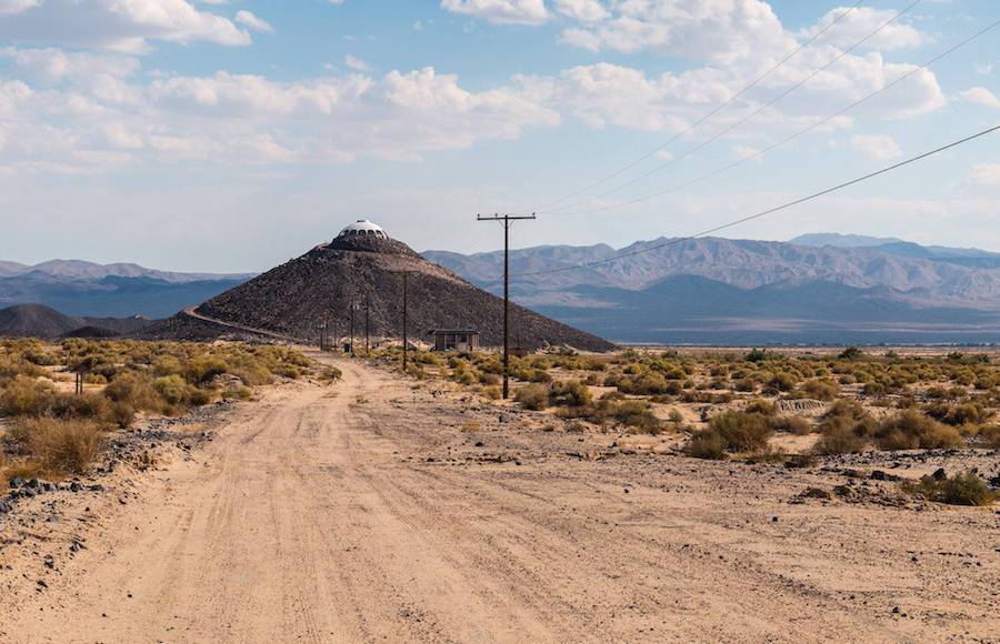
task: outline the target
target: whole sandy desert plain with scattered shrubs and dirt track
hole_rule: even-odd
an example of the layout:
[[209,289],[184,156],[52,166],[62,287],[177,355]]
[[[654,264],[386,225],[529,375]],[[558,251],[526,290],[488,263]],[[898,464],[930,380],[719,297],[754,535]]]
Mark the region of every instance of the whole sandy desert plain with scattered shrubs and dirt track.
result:
[[1000,641],[996,350],[399,358],[0,343],[0,642]]

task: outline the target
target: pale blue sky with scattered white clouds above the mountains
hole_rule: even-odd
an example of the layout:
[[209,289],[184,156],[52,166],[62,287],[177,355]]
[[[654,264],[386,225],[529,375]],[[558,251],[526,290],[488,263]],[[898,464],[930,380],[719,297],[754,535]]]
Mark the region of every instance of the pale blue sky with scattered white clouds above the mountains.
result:
[[[1000,123],[996,0],[0,0],[0,260],[682,237]],[[937,60],[934,60],[937,59]],[[924,63],[934,61],[927,67]],[[887,88],[887,89],[883,89]],[[1000,133],[724,231],[1000,251]]]

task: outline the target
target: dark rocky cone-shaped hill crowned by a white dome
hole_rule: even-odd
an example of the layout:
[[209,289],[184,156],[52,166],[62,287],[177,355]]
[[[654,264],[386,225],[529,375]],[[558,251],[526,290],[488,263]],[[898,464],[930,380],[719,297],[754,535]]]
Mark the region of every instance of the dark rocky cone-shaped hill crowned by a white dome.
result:
[[[352,232],[352,227],[361,227]],[[280,266],[236,286],[193,310],[146,330],[147,338],[209,339],[232,332],[216,320],[244,329],[316,341],[319,326],[332,335],[334,321],[347,336],[351,304],[354,335],[363,338],[366,302],[372,338],[398,339],[402,331],[403,271],[408,272],[407,316],[411,340],[429,342],[434,329],[476,329],[480,344],[503,342],[503,300],[421,258],[370,222],[351,224],[331,243],[320,244]],[[536,350],[568,345],[608,351],[610,342],[523,306],[510,306],[512,346]]]

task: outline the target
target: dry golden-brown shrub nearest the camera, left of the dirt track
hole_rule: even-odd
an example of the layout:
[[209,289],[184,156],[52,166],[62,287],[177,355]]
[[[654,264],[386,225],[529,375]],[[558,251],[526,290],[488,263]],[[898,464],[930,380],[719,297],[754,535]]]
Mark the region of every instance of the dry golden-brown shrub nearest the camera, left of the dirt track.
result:
[[28,419],[10,429],[7,441],[52,475],[86,474],[101,449],[97,423],[80,419]]

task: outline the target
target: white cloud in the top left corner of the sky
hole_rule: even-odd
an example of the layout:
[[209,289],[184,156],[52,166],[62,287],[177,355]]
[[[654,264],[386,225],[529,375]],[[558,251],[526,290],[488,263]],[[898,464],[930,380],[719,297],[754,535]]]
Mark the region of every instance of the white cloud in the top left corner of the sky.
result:
[[[10,1],[7,3],[9,7]],[[148,51],[149,41],[153,40],[250,43],[249,33],[232,21],[199,10],[186,0],[47,0],[14,4],[24,8],[0,13],[0,39],[130,52]]]

